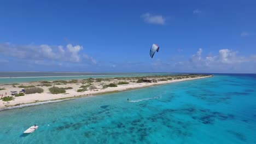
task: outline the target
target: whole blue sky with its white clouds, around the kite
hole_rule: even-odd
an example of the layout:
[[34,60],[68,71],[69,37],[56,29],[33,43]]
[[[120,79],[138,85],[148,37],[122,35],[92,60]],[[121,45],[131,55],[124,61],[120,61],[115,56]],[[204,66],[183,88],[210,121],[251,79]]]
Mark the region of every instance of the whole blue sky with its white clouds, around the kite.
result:
[[255,5],[1,1],[1,71],[256,73]]

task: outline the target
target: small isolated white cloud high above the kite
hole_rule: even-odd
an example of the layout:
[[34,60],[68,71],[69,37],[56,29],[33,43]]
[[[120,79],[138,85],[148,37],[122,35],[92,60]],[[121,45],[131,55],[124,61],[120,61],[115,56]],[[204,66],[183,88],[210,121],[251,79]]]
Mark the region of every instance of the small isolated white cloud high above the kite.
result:
[[162,15],[152,15],[149,13],[142,14],[141,17],[144,19],[145,22],[147,23],[152,23],[156,25],[164,25],[165,24],[165,17]]

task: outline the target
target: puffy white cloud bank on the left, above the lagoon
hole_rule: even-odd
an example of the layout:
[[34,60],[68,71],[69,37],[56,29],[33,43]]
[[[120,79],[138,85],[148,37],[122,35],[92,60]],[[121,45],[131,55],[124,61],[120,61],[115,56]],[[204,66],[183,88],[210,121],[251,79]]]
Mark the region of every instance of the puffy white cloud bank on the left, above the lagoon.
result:
[[[10,43],[0,44],[0,55],[34,61],[36,64],[43,64],[49,61],[74,62],[82,61],[81,53],[83,46],[68,44],[65,46],[50,45],[15,45]],[[89,60],[96,64],[92,57]],[[44,62],[43,62],[44,61]]]

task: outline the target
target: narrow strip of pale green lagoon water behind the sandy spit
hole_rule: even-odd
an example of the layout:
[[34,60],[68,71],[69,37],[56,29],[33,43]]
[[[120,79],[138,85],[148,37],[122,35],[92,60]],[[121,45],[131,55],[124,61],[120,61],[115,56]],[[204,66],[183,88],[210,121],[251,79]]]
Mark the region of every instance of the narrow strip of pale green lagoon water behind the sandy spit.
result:
[[33,81],[55,81],[107,78],[107,77],[131,77],[148,75],[170,75],[170,73],[63,73],[63,72],[0,72],[0,84],[21,83]]

